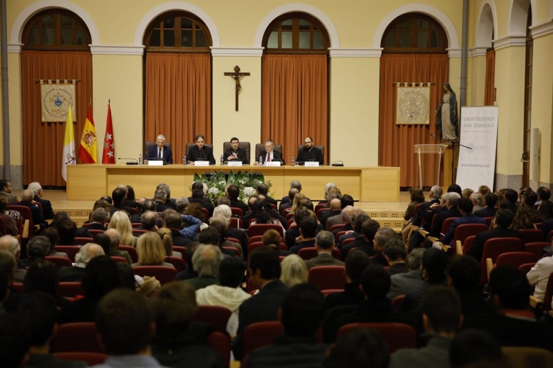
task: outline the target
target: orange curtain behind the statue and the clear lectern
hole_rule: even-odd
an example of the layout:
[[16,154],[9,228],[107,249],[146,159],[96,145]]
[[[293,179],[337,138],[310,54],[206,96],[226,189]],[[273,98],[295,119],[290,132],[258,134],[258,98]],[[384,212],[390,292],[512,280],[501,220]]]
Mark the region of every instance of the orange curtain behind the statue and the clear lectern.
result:
[[[442,98],[442,84],[448,77],[447,55],[382,55],[380,59],[380,106],[378,131],[378,164],[401,168],[400,186],[418,186],[418,156],[413,153],[414,144],[437,144],[430,134],[435,134],[435,116]],[[396,87],[393,82],[426,83],[430,89],[430,124],[396,125]],[[437,155],[424,154],[422,158],[422,185],[436,184]],[[444,170],[442,165],[442,173]],[[440,183],[442,179],[440,178]]]

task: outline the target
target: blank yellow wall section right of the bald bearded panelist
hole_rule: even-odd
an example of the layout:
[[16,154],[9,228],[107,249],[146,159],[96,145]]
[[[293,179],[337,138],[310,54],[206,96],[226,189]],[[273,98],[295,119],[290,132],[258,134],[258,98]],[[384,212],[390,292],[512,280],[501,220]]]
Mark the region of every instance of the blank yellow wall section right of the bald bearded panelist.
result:
[[379,59],[330,60],[330,162],[378,165]]

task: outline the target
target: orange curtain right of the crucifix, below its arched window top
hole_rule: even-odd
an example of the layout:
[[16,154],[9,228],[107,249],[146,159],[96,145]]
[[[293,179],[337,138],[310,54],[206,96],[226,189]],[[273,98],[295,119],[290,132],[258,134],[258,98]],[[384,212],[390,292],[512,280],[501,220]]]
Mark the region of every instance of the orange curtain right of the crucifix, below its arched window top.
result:
[[328,57],[263,55],[262,68],[260,142],[282,144],[290,164],[298,144],[310,136],[328,157]]

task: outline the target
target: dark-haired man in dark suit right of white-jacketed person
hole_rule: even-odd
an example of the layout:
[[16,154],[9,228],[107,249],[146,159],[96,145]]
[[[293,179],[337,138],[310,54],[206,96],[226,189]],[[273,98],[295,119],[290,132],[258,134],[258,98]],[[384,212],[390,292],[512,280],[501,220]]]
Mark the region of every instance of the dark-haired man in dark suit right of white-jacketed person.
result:
[[250,255],[249,268],[252,282],[259,293],[243,302],[238,309],[238,331],[232,344],[236,359],[243,356],[243,334],[246,327],[254,322],[278,320],[282,300],[289,290],[280,280],[279,254],[272,249],[255,249]]

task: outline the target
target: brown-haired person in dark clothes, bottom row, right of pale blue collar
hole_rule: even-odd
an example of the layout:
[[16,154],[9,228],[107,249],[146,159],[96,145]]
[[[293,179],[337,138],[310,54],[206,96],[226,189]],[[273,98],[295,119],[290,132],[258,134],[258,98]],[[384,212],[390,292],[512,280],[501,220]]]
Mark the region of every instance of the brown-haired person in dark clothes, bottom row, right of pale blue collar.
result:
[[[151,354],[165,367],[222,368],[217,351],[198,340],[190,331],[198,304],[194,288],[186,282],[164,285],[152,299],[156,334]],[[149,366],[148,366],[149,367]]]

